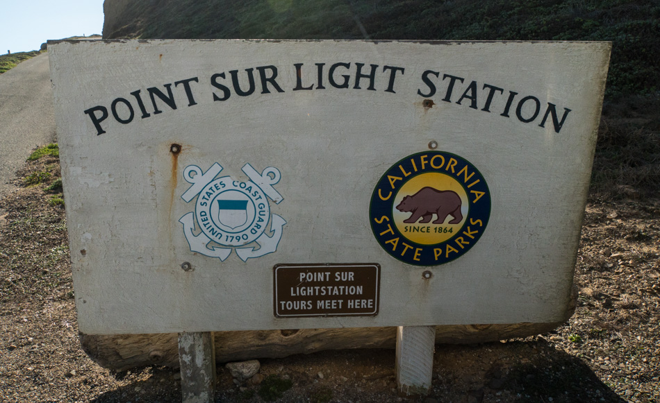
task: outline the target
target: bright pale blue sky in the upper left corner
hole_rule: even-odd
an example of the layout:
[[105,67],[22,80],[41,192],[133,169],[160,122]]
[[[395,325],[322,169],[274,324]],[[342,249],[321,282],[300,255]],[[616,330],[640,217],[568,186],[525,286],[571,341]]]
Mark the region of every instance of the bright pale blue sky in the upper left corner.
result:
[[104,0],[1,0],[0,55],[38,50],[47,40],[101,35]]

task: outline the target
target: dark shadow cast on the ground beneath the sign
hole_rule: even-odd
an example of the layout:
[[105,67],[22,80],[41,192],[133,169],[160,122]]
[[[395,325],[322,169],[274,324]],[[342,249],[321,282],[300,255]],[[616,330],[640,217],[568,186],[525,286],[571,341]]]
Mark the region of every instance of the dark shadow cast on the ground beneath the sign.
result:
[[[277,402],[625,402],[585,360],[543,338],[479,345],[437,345],[429,395],[395,389],[394,350],[340,350],[261,360],[261,374],[290,379]],[[94,403],[180,402],[176,370],[146,368],[145,376]],[[127,372],[115,377],[122,379]],[[263,402],[258,385],[237,385],[217,368],[216,401]]]

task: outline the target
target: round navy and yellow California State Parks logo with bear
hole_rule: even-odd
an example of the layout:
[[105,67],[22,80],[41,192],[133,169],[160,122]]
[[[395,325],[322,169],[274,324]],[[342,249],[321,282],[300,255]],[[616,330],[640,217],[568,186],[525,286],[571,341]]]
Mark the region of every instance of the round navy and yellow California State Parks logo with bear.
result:
[[481,238],[490,192],[467,160],[443,151],[405,157],[379,180],[370,222],[380,246],[415,266],[452,261]]

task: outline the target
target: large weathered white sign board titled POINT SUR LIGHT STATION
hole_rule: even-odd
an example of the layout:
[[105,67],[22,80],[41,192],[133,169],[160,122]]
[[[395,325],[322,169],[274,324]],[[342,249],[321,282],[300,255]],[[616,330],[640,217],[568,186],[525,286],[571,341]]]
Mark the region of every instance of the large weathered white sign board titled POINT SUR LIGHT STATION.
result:
[[49,44],[85,334],[550,323],[610,44]]

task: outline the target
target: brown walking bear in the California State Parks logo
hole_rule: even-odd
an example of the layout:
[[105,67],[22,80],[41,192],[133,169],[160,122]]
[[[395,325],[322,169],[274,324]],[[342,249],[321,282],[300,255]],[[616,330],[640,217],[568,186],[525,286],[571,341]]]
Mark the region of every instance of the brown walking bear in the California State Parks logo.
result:
[[399,212],[413,213],[410,218],[404,220],[404,223],[416,223],[423,218],[421,223],[428,223],[434,214],[438,219],[434,224],[443,224],[447,216],[454,217],[449,224],[458,224],[463,220],[461,214],[461,196],[451,190],[438,190],[432,187],[423,187],[412,196],[404,197],[401,203],[397,205]]

